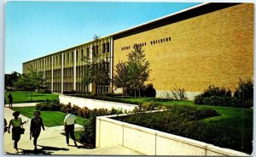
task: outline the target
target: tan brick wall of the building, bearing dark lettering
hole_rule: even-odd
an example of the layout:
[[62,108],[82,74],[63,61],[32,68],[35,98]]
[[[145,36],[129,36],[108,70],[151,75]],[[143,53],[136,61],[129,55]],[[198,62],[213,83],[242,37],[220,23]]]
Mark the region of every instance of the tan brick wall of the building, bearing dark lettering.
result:
[[127,60],[135,43],[146,43],[151,69],[147,83],[157,90],[168,91],[175,84],[186,92],[201,92],[209,85],[234,90],[239,78],[253,79],[253,10],[253,3],[242,3],[114,40],[114,69]]

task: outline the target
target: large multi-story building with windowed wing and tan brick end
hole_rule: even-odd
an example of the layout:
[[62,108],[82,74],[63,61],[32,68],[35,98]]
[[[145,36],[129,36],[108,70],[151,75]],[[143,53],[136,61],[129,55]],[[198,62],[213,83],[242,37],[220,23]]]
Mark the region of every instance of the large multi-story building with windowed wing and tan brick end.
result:
[[157,96],[173,87],[194,98],[208,86],[235,89],[240,79],[253,80],[253,3],[202,3],[175,14],[137,25],[39,59],[23,63],[23,73],[35,67],[53,93],[112,93],[109,87],[82,86],[83,57],[102,48],[113,78],[115,65],[126,61],[134,44],[143,47],[150,63],[147,83]]

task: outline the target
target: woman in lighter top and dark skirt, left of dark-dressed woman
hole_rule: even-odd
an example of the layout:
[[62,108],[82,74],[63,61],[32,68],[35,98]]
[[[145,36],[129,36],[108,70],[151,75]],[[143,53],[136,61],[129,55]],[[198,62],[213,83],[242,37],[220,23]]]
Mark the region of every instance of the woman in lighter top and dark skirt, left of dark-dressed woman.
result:
[[21,118],[19,117],[19,111],[15,111],[13,115],[15,118],[9,121],[8,133],[10,131],[10,126],[13,126],[12,140],[15,141],[14,148],[16,149],[16,153],[18,153],[18,142],[20,141],[20,126],[25,124],[26,121],[22,122]]

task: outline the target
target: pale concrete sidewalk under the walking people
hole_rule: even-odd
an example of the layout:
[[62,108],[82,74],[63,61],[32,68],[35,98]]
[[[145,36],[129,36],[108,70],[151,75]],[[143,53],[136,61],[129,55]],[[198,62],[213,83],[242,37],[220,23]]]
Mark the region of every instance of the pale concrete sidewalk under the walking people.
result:
[[[34,106],[35,104],[14,104],[13,107]],[[6,105],[9,106],[9,105]],[[13,110],[8,107],[4,108],[4,118],[9,121],[13,118]],[[29,119],[24,115],[20,115],[22,121]],[[73,140],[70,140],[71,146],[67,146],[66,137],[63,126],[46,127],[45,131],[42,130],[38,137],[38,150],[34,151],[32,140],[29,139],[30,121],[23,125],[26,129],[25,134],[21,135],[20,142],[18,143],[18,154],[72,154],[72,155],[143,155],[131,149],[126,149],[121,146],[114,146],[111,148],[103,149],[87,149],[84,145],[78,143],[79,147],[75,147]],[[80,127],[80,126],[78,126]],[[3,151],[6,154],[15,154],[14,141],[11,140],[11,132],[4,133]]]

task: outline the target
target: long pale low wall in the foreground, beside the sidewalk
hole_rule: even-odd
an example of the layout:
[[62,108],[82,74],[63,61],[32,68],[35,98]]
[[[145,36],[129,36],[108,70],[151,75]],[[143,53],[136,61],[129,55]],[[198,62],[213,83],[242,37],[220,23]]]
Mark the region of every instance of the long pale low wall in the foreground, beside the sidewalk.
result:
[[96,148],[121,145],[146,155],[249,155],[109,118],[113,116],[96,118]]

